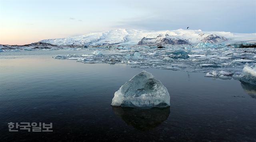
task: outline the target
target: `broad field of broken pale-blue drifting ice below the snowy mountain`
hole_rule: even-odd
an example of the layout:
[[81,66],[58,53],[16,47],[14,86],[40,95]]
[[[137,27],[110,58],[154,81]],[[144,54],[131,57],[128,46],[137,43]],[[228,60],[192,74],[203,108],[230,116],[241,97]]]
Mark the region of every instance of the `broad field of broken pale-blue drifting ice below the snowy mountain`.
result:
[[[244,65],[256,62],[255,48],[232,48],[218,45],[218,48],[198,48],[196,45],[164,45],[157,49],[154,45],[130,46],[130,50],[120,50],[118,45],[111,47],[88,47],[96,54],[57,55],[53,58],[72,58],[82,63],[129,64],[132,68],[159,68],[166,70],[182,70],[186,72],[220,72],[225,70],[239,75]],[[124,47],[122,47],[124,48]],[[94,51],[94,50],[98,51]],[[105,54],[98,54],[98,52]],[[82,51],[81,51],[82,52]],[[98,55],[97,55],[98,54]],[[75,58],[73,58],[75,57]],[[188,58],[189,57],[189,58]]]

